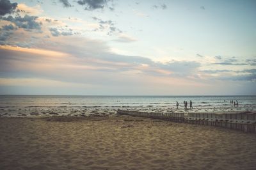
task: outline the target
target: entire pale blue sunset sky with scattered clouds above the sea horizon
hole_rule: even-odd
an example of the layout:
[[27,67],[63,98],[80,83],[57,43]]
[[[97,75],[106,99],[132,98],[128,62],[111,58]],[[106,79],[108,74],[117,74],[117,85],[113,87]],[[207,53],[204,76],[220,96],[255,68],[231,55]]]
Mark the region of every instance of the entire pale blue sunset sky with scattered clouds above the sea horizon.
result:
[[256,95],[256,1],[0,0],[0,95]]

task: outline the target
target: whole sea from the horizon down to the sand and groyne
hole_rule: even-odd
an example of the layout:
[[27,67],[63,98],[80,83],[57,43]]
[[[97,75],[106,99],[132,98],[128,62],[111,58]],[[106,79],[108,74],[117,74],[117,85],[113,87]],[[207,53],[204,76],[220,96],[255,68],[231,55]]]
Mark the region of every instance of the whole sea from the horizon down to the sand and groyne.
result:
[[[184,101],[193,109],[184,109]],[[234,107],[230,100],[238,101]],[[179,109],[176,109],[176,101]],[[113,115],[117,109],[155,112],[255,111],[256,96],[0,96],[0,116]]]

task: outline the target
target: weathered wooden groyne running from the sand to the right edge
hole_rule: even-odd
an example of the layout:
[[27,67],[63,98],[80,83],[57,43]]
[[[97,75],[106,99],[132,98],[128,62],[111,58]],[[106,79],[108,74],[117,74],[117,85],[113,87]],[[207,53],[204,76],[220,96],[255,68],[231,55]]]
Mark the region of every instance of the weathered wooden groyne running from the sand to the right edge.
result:
[[190,123],[195,125],[209,125],[230,128],[243,132],[256,133],[256,114],[240,113],[184,113],[184,112],[140,112],[118,110],[118,114],[154,118],[158,120]]

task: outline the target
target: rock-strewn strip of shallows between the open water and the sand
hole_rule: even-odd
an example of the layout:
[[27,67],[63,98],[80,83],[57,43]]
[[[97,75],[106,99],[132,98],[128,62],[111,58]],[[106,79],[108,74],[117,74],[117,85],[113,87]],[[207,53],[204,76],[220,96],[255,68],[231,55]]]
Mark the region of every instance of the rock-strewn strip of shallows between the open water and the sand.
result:
[[241,114],[243,112],[248,112],[256,114],[255,108],[239,108],[239,107],[228,107],[228,108],[211,108],[211,109],[173,109],[173,108],[157,108],[157,107],[120,107],[120,108],[48,108],[48,109],[37,109],[37,108],[25,108],[25,109],[0,109],[0,117],[34,117],[34,116],[92,116],[92,115],[103,115],[103,116],[114,116],[118,109],[125,111],[142,111],[142,112],[163,112],[164,114],[169,112],[175,113],[202,113],[202,114]]

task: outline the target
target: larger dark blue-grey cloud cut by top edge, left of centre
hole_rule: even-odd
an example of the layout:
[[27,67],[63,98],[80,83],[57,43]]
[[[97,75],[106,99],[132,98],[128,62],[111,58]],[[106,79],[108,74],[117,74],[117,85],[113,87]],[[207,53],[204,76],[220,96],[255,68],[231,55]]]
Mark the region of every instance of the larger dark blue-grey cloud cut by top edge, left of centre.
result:
[[103,9],[108,0],[79,0],[77,3],[86,6],[84,10],[96,10]]

